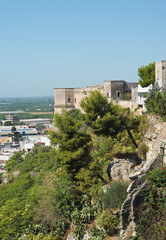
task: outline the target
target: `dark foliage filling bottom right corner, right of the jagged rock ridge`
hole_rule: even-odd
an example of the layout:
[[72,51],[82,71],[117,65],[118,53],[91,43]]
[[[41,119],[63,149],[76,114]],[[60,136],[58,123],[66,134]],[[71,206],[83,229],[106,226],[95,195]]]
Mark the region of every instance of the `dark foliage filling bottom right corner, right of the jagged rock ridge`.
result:
[[165,240],[166,236],[166,167],[151,171],[148,185],[142,193],[144,199],[137,210],[137,238]]

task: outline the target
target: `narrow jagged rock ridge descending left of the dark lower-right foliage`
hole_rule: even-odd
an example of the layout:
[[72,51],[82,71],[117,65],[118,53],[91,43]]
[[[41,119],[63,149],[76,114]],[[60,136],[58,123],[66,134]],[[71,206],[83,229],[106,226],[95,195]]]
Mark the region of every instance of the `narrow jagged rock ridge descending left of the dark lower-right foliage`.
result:
[[148,171],[160,167],[161,164],[161,156],[159,155],[151,161],[145,162],[140,170],[129,176],[133,181],[127,189],[128,196],[121,208],[121,239],[129,240],[131,236],[136,235],[138,220],[136,209],[142,203],[141,192],[147,186],[146,174]]

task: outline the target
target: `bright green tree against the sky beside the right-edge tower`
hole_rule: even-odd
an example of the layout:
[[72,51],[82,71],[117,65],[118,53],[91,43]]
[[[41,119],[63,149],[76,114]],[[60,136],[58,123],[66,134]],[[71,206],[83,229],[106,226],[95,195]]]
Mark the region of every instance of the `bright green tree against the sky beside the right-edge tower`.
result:
[[147,66],[138,68],[139,84],[141,87],[148,87],[155,82],[155,62],[149,63]]

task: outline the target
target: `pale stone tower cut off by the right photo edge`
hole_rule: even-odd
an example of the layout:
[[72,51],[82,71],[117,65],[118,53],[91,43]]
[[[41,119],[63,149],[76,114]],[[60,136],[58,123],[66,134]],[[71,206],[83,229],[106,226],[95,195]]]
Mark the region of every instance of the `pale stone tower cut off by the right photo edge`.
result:
[[160,88],[166,90],[166,60],[155,64],[155,81]]

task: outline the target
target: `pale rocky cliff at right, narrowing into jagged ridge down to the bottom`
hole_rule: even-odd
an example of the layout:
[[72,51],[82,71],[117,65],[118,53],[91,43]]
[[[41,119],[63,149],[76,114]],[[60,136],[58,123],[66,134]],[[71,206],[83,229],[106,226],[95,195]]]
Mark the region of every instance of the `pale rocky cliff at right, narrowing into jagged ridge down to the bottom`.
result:
[[[142,190],[147,186],[146,174],[157,167],[161,167],[162,156],[159,155],[162,143],[166,143],[166,122],[158,116],[149,116],[149,127],[144,135],[144,142],[149,147],[147,161],[137,167],[129,175],[132,180],[127,192],[128,196],[121,209],[121,239],[128,240],[131,236],[136,236],[137,209],[142,204],[140,198]],[[166,150],[165,150],[166,153]]]

